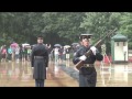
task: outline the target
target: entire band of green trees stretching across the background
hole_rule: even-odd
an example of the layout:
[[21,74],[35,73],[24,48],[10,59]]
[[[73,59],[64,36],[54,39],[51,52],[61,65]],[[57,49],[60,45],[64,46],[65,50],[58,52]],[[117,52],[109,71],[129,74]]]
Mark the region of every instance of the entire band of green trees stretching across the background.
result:
[[[94,34],[95,42],[114,29],[128,36],[132,48],[132,13],[0,12],[0,45],[12,41],[34,44],[37,35],[43,35],[47,44],[66,45],[78,42],[81,33]],[[110,47],[110,38],[106,44]]]

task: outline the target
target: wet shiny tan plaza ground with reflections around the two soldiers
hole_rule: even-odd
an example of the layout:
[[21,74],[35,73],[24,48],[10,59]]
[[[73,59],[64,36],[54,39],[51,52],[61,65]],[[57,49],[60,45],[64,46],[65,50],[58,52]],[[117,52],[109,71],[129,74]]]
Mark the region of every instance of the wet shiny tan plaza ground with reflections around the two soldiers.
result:
[[[131,87],[132,64],[96,66],[97,87]],[[30,62],[0,63],[0,87],[34,87]],[[70,61],[50,62],[46,87],[78,87],[78,72]]]

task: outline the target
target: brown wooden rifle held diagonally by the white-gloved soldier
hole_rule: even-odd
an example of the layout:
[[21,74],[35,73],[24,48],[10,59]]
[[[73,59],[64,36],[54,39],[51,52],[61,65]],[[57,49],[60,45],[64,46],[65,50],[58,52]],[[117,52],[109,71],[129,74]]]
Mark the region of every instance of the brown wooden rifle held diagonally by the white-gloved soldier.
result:
[[[114,29],[113,31],[107,33],[107,35],[106,35],[105,37],[100,38],[100,40],[95,44],[95,47],[98,47],[98,46],[102,43],[102,41],[105,41],[105,38],[106,38],[107,36],[110,36],[116,30],[117,30],[117,29]],[[92,51],[89,50],[88,52],[85,53],[85,56],[88,57],[91,53],[92,53]],[[78,62],[75,66],[76,66],[76,68],[79,70],[79,69],[82,67],[82,65],[84,65],[84,61],[80,61],[80,62]]]

